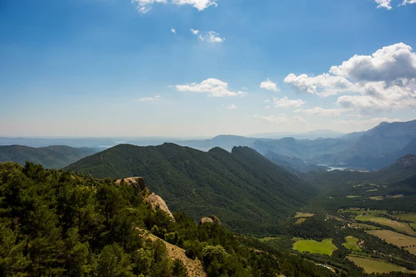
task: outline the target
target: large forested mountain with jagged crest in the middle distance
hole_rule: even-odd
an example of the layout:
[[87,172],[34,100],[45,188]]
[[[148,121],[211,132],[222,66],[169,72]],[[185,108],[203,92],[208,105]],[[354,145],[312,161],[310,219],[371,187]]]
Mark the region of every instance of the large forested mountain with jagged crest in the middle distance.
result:
[[277,233],[314,190],[247,147],[202,152],[173,143],[117,145],[66,168],[94,177],[143,176],[172,211],[218,215],[234,231]]

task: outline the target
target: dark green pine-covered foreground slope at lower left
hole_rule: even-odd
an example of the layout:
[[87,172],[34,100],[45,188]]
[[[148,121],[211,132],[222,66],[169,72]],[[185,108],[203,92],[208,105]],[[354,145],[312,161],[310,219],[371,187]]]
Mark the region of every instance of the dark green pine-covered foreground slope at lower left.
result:
[[335,276],[218,224],[184,213],[173,222],[126,182],[0,163],[0,199],[0,276],[194,276],[141,230],[199,259],[210,277]]

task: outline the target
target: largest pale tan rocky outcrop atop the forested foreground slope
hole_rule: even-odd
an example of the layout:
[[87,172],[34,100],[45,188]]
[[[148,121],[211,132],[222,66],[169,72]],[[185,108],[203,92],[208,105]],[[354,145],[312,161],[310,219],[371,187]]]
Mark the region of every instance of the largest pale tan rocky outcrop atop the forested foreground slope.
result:
[[164,202],[164,199],[160,197],[159,195],[155,193],[150,193],[150,190],[146,186],[146,183],[144,181],[143,177],[130,177],[130,178],[124,178],[119,179],[116,181],[116,184],[121,183],[128,184],[129,186],[133,186],[135,188],[135,194],[141,195],[150,206],[152,206],[154,211],[162,210],[166,212],[173,221],[175,221],[175,217],[173,217],[171,211],[168,208],[168,205],[166,205],[166,202]]

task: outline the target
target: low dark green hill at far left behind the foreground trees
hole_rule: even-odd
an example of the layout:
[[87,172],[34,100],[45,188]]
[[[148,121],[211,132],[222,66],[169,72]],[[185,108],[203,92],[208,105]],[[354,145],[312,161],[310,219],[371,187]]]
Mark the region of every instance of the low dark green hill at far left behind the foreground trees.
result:
[[14,161],[24,166],[26,161],[40,163],[45,168],[63,168],[97,151],[91,148],[71,148],[53,145],[43,148],[31,148],[24,145],[0,146],[0,162]]

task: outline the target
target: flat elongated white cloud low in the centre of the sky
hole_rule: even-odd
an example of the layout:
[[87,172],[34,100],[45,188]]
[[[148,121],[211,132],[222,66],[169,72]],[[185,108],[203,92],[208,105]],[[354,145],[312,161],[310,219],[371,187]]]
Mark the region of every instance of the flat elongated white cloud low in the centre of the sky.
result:
[[243,91],[230,91],[226,82],[214,78],[203,80],[200,84],[177,84],[175,88],[177,91],[206,92],[213,97],[242,96],[245,94]]

